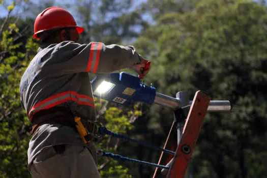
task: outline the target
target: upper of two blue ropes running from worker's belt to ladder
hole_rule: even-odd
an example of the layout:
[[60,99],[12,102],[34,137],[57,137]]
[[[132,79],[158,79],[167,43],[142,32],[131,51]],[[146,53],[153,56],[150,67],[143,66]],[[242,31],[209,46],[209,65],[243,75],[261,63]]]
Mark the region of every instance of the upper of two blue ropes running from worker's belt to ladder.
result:
[[165,152],[165,153],[168,153],[168,154],[175,155],[175,152],[172,152],[170,150],[165,150],[165,149],[162,149],[161,147],[154,146],[152,144],[145,143],[145,142],[142,142],[142,141],[138,141],[138,140],[129,138],[129,137],[127,137],[125,135],[122,135],[122,134],[117,134],[115,132],[111,132],[111,131],[107,130],[107,128],[105,126],[99,127],[98,132],[99,132],[100,135],[103,135],[103,136],[110,135],[110,136],[113,136],[113,137],[122,138],[122,139],[125,139],[125,140],[128,140],[128,141],[139,143],[139,144],[141,144],[143,146],[151,147],[152,149],[155,149],[155,150],[158,150],[158,151],[162,151],[162,152]]

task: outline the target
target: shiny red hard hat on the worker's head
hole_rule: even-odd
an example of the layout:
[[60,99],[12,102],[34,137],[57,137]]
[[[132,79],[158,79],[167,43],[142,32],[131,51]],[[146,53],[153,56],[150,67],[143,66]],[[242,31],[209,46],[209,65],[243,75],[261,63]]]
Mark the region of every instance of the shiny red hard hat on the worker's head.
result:
[[37,34],[49,29],[63,27],[76,27],[79,34],[84,31],[83,27],[77,26],[73,16],[67,10],[59,7],[50,7],[36,17],[33,37],[39,39]]

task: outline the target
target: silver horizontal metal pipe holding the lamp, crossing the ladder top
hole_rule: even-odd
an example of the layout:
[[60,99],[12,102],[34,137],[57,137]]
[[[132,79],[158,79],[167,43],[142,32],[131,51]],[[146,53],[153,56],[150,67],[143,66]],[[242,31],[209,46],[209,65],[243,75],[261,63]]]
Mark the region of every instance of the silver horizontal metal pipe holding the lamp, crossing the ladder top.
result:
[[[181,99],[180,98],[173,98],[161,93],[156,93],[156,97],[154,103],[169,107],[173,110],[182,107],[181,106]],[[189,102],[191,104],[192,101]],[[230,101],[211,101],[207,111],[229,111],[231,110],[231,103]]]

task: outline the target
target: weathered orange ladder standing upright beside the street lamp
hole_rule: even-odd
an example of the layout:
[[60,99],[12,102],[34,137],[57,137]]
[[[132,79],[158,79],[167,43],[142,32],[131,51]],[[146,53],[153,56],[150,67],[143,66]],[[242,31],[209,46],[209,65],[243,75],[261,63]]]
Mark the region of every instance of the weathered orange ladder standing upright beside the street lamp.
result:
[[173,122],[164,149],[175,151],[175,155],[173,157],[162,152],[158,164],[169,163],[170,169],[166,175],[166,173],[163,173],[164,170],[156,168],[153,178],[184,178],[210,101],[211,98],[204,92],[196,92],[178,146],[177,136],[175,136],[175,123]]

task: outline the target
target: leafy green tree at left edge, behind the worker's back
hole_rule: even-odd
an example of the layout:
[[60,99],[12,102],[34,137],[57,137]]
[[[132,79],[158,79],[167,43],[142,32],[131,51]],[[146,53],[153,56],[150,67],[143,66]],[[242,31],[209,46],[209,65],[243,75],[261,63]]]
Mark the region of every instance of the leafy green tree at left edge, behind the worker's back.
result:
[[25,29],[21,32],[16,26],[19,19],[10,18],[14,6],[8,6],[8,15],[0,28],[0,176],[29,177],[29,122],[19,101],[19,81],[37,45],[24,38]]

